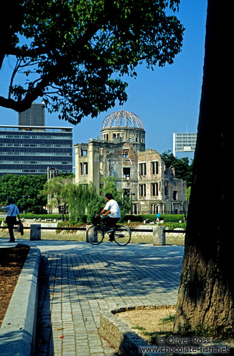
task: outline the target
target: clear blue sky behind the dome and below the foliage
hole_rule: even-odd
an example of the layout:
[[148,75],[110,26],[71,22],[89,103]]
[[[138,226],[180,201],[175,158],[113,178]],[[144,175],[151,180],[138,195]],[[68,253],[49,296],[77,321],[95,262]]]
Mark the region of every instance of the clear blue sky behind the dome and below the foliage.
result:
[[[173,151],[173,132],[196,132],[203,79],[207,0],[181,0],[176,16],[186,28],[181,53],[172,65],[148,70],[138,66],[136,79],[128,78],[128,101],[115,105],[97,118],[84,118],[73,126],[73,142],[101,137],[104,118],[117,110],[133,112],[141,118],[146,131],[146,148],[159,153]],[[4,67],[6,68],[6,67]],[[5,94],[6,77],[0,72],[0,94]],[[40,103],[40,101],[37,101]],[[46,126],[72,126],[46,112]],[[18,125],[18,114],[0,107],[0,125]],[[178,157],[192,157],[190,153]]]

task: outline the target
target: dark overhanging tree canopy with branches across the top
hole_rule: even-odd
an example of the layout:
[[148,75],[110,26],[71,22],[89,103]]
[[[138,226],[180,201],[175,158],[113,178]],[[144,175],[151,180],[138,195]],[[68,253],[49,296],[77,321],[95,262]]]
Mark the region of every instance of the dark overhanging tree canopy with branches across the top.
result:
[[15,66],[0,105],[23,112],[42,98],[50,112],[76,124],[122,104],[123,75],[135,77],[143,62],[172,64],[181,51],[178,6],[179,0],[5,2],[0,68],[6,55]]

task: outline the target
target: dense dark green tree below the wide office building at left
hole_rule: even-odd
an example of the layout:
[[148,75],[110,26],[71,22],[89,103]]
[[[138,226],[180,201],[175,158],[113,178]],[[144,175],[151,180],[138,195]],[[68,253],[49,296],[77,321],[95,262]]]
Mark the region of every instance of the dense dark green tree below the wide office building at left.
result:
[[40,196],[46,175],[3,175],[0,177],[0,201],[14,198],[20,212],[42,212],[47,199]]

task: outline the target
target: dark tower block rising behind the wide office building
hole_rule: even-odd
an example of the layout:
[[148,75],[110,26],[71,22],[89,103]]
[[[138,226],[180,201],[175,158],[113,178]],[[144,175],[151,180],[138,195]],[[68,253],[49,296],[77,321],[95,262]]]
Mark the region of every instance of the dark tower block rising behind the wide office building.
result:
[[45,106],[44,103],[32,103],[30,109],[18,114],[18,125],[44,126]]

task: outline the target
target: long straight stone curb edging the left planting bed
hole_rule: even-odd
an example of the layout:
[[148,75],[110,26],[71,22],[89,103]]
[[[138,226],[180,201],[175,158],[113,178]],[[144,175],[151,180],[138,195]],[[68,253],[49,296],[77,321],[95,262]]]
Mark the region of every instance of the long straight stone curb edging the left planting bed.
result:
[[34,353],[40,255],[38,247],[30,247],[1,325],[0,356],[31,356]]

